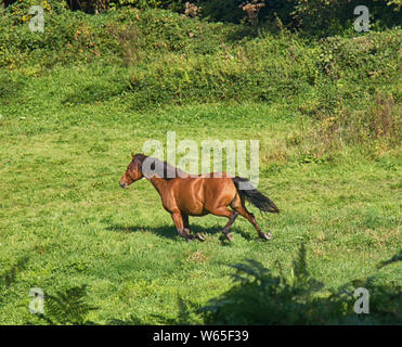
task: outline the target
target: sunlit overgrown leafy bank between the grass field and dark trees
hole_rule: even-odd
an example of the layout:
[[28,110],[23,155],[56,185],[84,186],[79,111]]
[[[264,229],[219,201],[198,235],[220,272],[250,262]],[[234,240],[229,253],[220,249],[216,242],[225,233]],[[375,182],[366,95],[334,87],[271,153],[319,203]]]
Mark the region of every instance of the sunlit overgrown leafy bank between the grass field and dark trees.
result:
[[386,139],[393,146],[401,139],[401,29],[312,39],[168,10],[126,7],[91,15],[43,1],[41,34],[28,28],[27,3],[0,16],[1,103],[23,88],[26,77],[50,74],[57,65],[86,65],[107,78],[82,78],[60,98],[64,104],[121,98],[129,107],[147,111],[184,103],[278,102],[319,119],[317,136],[326,140]]

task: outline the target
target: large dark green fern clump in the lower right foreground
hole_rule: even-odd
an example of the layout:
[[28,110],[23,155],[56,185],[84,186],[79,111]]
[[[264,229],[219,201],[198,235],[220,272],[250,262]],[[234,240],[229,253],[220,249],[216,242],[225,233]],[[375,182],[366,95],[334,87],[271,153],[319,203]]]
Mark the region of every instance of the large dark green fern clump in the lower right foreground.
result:
[[[392,261],[399,261],[400,256]],[[329,296],[310,277],[306,249],[299,248],[293,277],[278,275],[255,260],[234,266],[235,285],[198,312],[207,324],[401,324],[401,287],[375,284],[375,278],[354,280]],[[369,314],[356,314],[354,288],[369,292]]]

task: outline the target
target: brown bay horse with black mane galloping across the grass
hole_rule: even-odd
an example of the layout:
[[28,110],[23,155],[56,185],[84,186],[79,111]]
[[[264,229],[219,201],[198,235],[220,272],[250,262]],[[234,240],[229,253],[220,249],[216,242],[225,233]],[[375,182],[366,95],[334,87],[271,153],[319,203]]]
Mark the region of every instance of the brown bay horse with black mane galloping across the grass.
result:
[[161,204],[170,214],[179,235],[186,241],[205,240],[199,234],[190,233],[189,216],[208,214],[229,219],[222,230],[229,241],[233,241],[229,229],[238,215],[245,217],[256,228],[259,237],[264,240],[272,237],[269,232],[260,230],[254,215],[247,210],[245,200],[264,213],[278,214],[280,210],[269,197],[244,178],[225,172],[190,175],[157,158],[131,154],[131,163],[127,166],[119,184],[126,189],[142,178],[146,178],[159,193]]

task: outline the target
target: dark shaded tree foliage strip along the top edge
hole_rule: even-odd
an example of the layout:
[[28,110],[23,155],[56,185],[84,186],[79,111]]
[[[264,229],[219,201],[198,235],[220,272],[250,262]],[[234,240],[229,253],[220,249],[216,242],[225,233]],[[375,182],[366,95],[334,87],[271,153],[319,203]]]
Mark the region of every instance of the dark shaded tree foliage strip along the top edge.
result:
[[[11,9],[26,8],[33,0],[5,1]],[[50,1],[41,2],[47,7]],[[193,15],[209,21],[244,23],[270,26],[280,22],[288,28],[306,33],[329,36],[345,31],[350,27],[358,5],[366,5],[371,14],[372,30],[400,26],[401,0],[55,0],[57,7],[81,10],[87,13],[114,11],[129,7],[141,10],[164,9],[186,13],[185,9],[196,8]],[[34,3],[37,4],[37,1]],[[18,11],[17,11],[18,12]],[[251,17],[256,16],[256,21]],[[276,23],[277,24],[277,23]]]

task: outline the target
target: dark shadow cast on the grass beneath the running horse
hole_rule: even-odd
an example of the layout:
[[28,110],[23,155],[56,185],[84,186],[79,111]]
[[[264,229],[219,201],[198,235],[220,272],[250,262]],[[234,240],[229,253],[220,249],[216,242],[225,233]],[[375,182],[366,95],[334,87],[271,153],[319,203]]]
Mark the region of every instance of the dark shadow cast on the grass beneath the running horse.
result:
[[[205,234],[206,237],[208,239],[209,235],[216,235],[216,234],[221,234],[222,233],[222,226],[215,226],[215,227],[209,227],[205,228],[203,226],[198,224],[191,224],[190,230],[191,234],[195,235],[197,233]],[[174,226],[164,226],[164,227],[147,227],[147,226],[122,226],[122,224],[109,224],[106,227],[106,230],[109,231],[115,231],[115,232],[124,232],[124,233],[137,233],[137,232],[152,232],[158,236],[170,239],[170,240],[176,240],[179,234],[178,231],[176,230]],[[231,233],[235,237],[236,235],[241,235],[243,239],[250,241],[252,240],[252,236],[243,231],[242,229],[238,228],[231,228]]]

